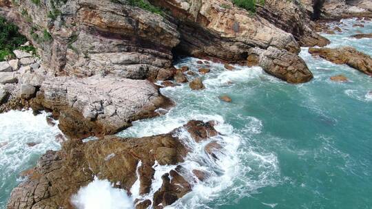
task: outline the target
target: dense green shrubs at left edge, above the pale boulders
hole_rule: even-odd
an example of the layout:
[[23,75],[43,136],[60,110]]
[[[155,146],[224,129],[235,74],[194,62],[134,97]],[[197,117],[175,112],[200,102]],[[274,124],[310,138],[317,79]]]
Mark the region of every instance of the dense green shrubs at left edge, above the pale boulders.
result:
[[4,61],[7,56],[14,56],[13,50],[36,52],[33,46],[21,47],[26,41],[25,36],[18,32],[16,25],[0,17],[0,61]]

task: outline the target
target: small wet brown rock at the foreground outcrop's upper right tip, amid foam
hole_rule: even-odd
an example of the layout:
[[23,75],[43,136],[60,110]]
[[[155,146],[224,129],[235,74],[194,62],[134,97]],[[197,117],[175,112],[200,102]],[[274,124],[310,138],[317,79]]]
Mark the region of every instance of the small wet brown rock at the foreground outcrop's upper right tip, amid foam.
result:
[[209,137],[218,135],[211,122],[204,123],[199,120],[191,120],[184,127],[196,142],[201,142],[207,140]]

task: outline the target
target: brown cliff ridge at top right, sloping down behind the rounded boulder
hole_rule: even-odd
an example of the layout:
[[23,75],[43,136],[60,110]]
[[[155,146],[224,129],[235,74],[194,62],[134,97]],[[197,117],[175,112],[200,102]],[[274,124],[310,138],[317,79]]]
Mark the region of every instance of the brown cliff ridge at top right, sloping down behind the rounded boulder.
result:
[[330,43],[311,30],[310,15],[299,1],[266,0],[263,7],[258,7],[258,14],[276,27],[293,34],[302,46],[322,47]]

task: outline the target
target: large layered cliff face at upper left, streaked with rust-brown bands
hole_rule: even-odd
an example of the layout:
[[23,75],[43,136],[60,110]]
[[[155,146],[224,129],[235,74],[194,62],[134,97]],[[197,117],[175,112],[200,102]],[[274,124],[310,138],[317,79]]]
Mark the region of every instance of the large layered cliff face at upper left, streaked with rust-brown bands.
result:
[[[64,3],[65,2],[65,3]],[[176,25],[158,14],[114,1],[21,1],[1,13],[41,48],[57,74],[156,79],[172,65]]]

